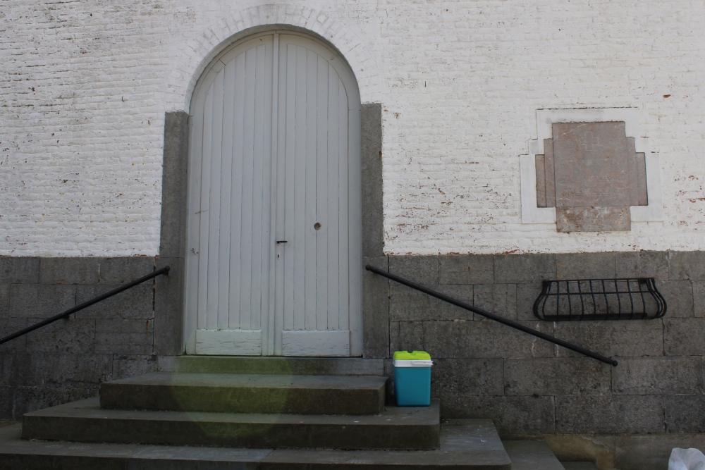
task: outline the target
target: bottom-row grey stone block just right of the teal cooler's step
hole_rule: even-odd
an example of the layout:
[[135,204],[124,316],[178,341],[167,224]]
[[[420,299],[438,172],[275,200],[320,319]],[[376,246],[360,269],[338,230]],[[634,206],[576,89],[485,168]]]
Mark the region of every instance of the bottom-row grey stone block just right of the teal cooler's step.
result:
[[553,433],[553,397],[441,397],[441,416],[486,418],[494,421],[500,436],[517,433]]

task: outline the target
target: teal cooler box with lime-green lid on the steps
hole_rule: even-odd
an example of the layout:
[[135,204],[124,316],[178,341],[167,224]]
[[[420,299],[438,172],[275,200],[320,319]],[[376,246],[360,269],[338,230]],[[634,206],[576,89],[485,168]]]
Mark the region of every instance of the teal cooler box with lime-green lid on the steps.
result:
[[431,355],[424,351],[394,353],[394,393],[398,407],[431,404]]

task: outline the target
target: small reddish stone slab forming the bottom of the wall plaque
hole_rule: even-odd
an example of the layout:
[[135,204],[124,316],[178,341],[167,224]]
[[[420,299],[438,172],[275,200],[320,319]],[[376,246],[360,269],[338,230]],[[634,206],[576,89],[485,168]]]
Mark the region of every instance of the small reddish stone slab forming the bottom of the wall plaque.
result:
[[629,206],[556,207],[558,232],[613,232],[631,229]]

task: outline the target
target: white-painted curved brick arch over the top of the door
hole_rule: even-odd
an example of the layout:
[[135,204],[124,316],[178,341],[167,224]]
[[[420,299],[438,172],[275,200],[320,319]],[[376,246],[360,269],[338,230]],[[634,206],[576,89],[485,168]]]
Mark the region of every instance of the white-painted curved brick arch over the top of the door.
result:
[[173,44],[169,55],[174,64],[167,77],[171,111],[189,111],[191,95],[208,64],[228,45],[251,33],[282,27],[298,27],[323,37],[343,54],[355,73],[363,103],[379,94],[376,61],[355,32],[322,11],[293,4],[266,4],[235,11],[202,30],[183,47]]

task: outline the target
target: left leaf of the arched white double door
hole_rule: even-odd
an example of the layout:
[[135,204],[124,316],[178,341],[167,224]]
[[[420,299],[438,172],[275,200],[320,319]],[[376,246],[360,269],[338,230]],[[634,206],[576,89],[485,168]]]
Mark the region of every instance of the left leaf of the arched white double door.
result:
[[197,221],[200,240],[197,277],[187,280],[197,286],[197,353],[262,351],[262,319],[270,316],[272,62],[272,37],[233,49],[211,70],[198,110],[203,178],[190,223]]

